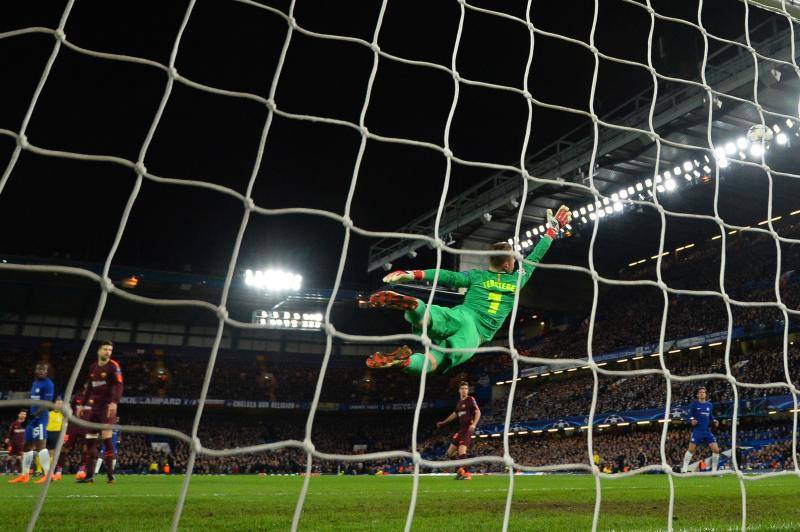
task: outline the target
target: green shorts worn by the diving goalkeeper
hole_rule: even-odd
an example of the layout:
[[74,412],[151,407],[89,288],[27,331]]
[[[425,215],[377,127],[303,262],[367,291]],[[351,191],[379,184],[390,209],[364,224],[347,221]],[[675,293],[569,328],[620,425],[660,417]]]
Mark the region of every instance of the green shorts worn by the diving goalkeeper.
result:
[[[451,308],[430,305],[429,309],[431,319],[428,336],[433,344],[449,349],[463,349],[463,351],[443,353],[444,367],[440,366],[440,371],[447,371],[472,358],[482,342],[475,315],[462,306]],[[412,324],[412,332],[421,335],[422,328]]]

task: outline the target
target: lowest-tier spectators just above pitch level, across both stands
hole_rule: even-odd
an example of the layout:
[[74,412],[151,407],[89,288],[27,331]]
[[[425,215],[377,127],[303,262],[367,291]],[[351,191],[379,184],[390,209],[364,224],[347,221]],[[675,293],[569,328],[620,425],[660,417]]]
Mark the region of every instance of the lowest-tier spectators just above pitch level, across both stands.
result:
[[[153,413],[139,411],[133,424],[157,425]],[[391,419],[386,419],[386,416]],[[163,416],[161,416],[163,419]],[[170,416],[170,428],[190,432],[191,416]],[[203,446],[211,449],[236,448],[282,440],[302,440],[303,416],[278,416],[270,418],[242,415],[231,418],[215,413],[204,417],[199,437]],[[432,460],[445,459],[445,450],[451,434],[435,429],[435,417],[425,415],[420,420],[419,449],[422,456]],[[411,416],[404,414],[322,414],[314,424],[312,440],[317,450],[332,453],[359,455],[365,452],[410,450]],[[740,448],[740,467],[745,470],[781,470],[794,467],[791,457],[791,419],[759,420],[743,418],[737,432]],[[722,425],[717,438],[723,450],[730,449],[730,424]],[[596,430],[593,435],[598,465],[607,472],[626,471],[661,463],[661,425],[629,426]],[[153,444],[156,443],[154,446]],[[168,447],[164,447],[164,443]],[[689,443],[689,429],[685,424],[671,424],[665,445],[667,462],[672,467],[680,465]],[[77,470],[78,449],[65,448],[65,470]],[[586,464],[589,460],[586,433],[544,432],[513,436],[509,452],[517,464],[525,466],[552,466]],[[502,456],[502,438],[476,438],[471,456]],[[708,450],[701,448],[696,460],[708,461]],[[186,471],[189,447],[182,440],[135,432],[124,432],[119,446],[118,470],[139,474],[172,474]],[[302,449],[291,447],[267,452],[248,453],[227,457],[200,455],[195,462],[198,474],[299,474],[306,470],[306,455]],[[5,464],[8,469],[10,463]],[[165,467],[166,466],[166,467]],[[405,458],[381,461],[319,460],[312,462],[314,473],[374,474],[402,473],[411,470]],[[480,464],[477,472],[498,472],[502,465]]]

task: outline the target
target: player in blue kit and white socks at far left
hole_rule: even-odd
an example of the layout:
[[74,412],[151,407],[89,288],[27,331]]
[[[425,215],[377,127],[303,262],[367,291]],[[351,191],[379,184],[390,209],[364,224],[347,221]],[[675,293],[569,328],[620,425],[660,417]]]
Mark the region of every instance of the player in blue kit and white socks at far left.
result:
[[[36,380],[31,385],[31,399],[39,399],[42,401],[52,401],[55,396],[55,386],[47,373],[50,371],[50,366],[46,362],[39,362],[36,364],[35,374]],[[33,465],[34,455],[39,454],[39,462],[42,464],[42,471],[47,472],[50,469],[50,453],[47,451],[45,443],[47,442],[47,421],[49,419],[50,411],[47,407],[33,405],[28,413],[28,426],[25,427],[25,452],[22,454],[22,473],[10,480],[11,484],[26,484],[30,481],[30,470]],[[34,450],[35,449],[35,450]],[[36,482],[41,484],[44,482],[46,475]]]

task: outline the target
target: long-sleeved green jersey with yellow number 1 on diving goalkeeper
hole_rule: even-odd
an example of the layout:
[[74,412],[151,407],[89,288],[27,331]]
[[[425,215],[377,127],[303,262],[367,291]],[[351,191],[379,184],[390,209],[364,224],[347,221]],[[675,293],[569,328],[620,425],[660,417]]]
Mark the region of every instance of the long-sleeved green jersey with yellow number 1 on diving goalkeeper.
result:
[[[541,262],[552,240],[542,238],[526,260]],[[457,308],[468,310],[475,317],[475,325],[484,342],[488,342],[503,326],[506,316],[514,306],[514,294],[531,278],[535,266],[523,264],[522,278],[518,273],[498,273],[489,270],[451,272],[439,270],[439,284],[452,288],[466,288],[464,302]],[[436,270],[424,270],[425,280],[433,281]],[[519,286],[517,281],[519,280]]]

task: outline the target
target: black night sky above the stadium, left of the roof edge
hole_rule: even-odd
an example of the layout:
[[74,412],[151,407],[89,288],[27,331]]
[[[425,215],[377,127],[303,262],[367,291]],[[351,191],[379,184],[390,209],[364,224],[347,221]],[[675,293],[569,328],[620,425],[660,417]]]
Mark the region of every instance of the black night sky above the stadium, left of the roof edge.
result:
[[[265,2],[286,10],[288,2]],[[166,63],[186,7],[183,1],[78,0],[66,27],[82,47]],[[475,1],[524,16],[525,2]],[[565,9],[564,6],[569,8]],[[56,27],[64,2],[3,2],[0,31]],[[537,27],[588,41],[594,3],[534,2]],[[603,0],[597,46],[609,54],[646,61],[649,16],[619,0]],[[740,2],[705,2],[704,23],[736,38],[743,30]],[[300,0],[295,16],[310,30],[371,39],[378,1]],[[696,20],[697,2],[654,3],[661,13]],[[380,34],[383,50],[411,59],[450,64],[459,9],[455,1],[389,2]],[[755,17],[755,14],[754,14]],[[266,97],[286,34],[283,19],[230,0],[200,0],[177,59],[185,77],[215,87]],[[665,74],[693,78],[702,57],[691,29],[659,21],[657,39]],[[18,130],[52,48],[48,35],[0,40],[3,98],[0,127]],[[528,54],[524,27],[468,11],[458,57],[467,78],[522,87]],[[357,121],[372,53],[365,47],[295,33],[276,101],[286,111]],[[530,76],[535,97],[587,109],[593,59],[559,40],[537,37]],[[135,159],[154,116],[166,75],[152,67],[100,60],[62,48],[28,129],[31,143],[51,149]],[[600,114],[650,85],[641,69],[603,61],[597,90]],[[371,131],[442,144],[453,96],[444,72],[381,59],[366,116]],[[176,83],[147,153],[152,173],[200,179],[244,193],[253,168],[266,109],[251,101],[212,95]],[[471,160],[519,160],[527,108],[510,93],[461,86],[451,134],[453,151]],[[580,124],[574,115],[537,108],[530,151]],[[352,129],[274,119],[254,199],[265,207],[303,206],[341,213],[360,136]],[[13,142],[0,136],[3,165]],[[433,151],[370,141],[352,209],[359,226],[394,230],[434,208],[444,158]],[[455,166],[450,193],[488,175]],[[0,253],[72,259],[105,258],[134,183],[128,169],[24,153],[0,194]],[[242,207],[236,200],[191,187],[145,181],[115,257],[117,264],[221,275],[227,266]],[[313,216],[254,216],[239,268],[283,265],[308,284],[333,281],[343,228]],[[373,242],[354,236],[345,282],[364,283]]]

